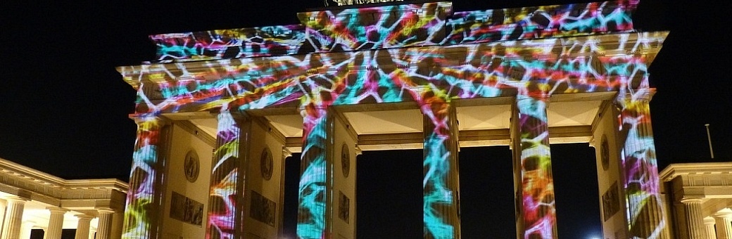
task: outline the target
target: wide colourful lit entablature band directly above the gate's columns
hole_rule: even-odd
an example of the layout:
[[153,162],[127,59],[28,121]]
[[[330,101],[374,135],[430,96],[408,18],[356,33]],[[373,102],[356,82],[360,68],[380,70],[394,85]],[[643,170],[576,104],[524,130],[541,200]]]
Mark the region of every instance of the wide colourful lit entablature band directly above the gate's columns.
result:
[[[646,81],[645,57],[627,52],[660,48],[665,35],[607,34],[119,70],[132,86],[157,83],[138,95],[138,113],[214,110],[222,105],[239,110],[296,106],[305,99],[324,102],[321,105],[419,101],[410,91],[440,91],[449,99],[539,87],[550,88],[550,94],[572,94],[617,91],[631,84],[621,80],[624,77],[634,86]],[[602,48],[600,42],[617,42],[617,48]],[[602,56],[603,52],[616,54]]]

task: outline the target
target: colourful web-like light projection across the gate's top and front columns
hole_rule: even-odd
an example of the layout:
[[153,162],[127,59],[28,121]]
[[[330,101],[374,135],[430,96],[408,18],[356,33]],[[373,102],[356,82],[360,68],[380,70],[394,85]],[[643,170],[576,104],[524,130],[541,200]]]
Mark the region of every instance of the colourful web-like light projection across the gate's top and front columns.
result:
[[[237,42],[239,38],[233,36],[244,30],[228,33],[229,38],[222,37],[223,31],[209,31],[202,36],[166,34],[156,39],[169,48],[159,52],[161,58],[201,61],[120,67],[119,71],[127,83],[138,89],[135,107],[138,117],[222,109],[224,116],[228,110],[232,113],[272,107],[303,110],[305,133],[297,231],[301,238],[326,238],[329,235],[325,207],[330,179],[325,145],[328,143],[326,109],[329,106],[415,102],[425,107],[448,104],[454,99],[496,96],[517,96],[517,103],[523,104],[521,102],[527,99],[522,97],[528,96],[532,103],[529,110],[522,112],[521,120],[525,121],[522,127],[532,130],[545,127],[545,115],[534,111],[545,110],[539,107],[541,102],[535,100],[537,97],[543,100],[552,94],[619,91],[624,95],[648,91],[646,54],[657,53],[668,33],[628,32],[632,31],[630,12],[637,3],[608,1],[458,12],[451,19],[438,13],[440,4],[444,3],[408,5],[416,12],[405,15],[395,15],[395,12],[404,12],[409,7],[306,12],[300,16],[307,22],[301,28],[304,30],[300,30],[305,35],[298,33],[298,26],[294,26],[284,27],[291,30],[290,35],[264,37],[273,38],[272,42],[278,43],[270,46],[286,49],[284,51],[272,50],[275,48],[258,48],[257,51],[253,43]],[[446,6],[447,14],[449,5]],[[356,24],[356,20],[350,18],[354,14],[371,14],[373,22],[359,25],[364,21],[359,19]],[[441,36],[430,33],[436,31],[433,29],[449,31]],[[386,34],[381,34],[382,31]],[[240,35],[245,36],[242,39],[250,39],[249,42],[260,41],[257,34]],[[414,37],[403,37],[407,35]],[[556,38],[558,36],[562,38]],[[294,44],[298,41],[307,44]],[[196,45],[200,42],[206,44]],[[236,48],[232,50],[236,54],[229,55],[223,46]],[[237,58],[228,58],[230,56]],[[205,59],[216,60],[203,61]],[[627,204],[630,205],[629,227],[633,233],[638,232],[635,235],[644,235],[649,231],[648,226],[636,224],[636,221],[652,220],[653,216],[647,211],[660,212],[656,203],[660,197],[649,113],[635,98],[619,100],[623,105],[621,134],[627,135],[623,141],[623,164],[627,175]],[[422,110],[425,115],[435,114],[425,108]],[[436,123],[449,119],[440,114],[430,117]],[[212,181],[212,199],[220,200],[216,203],[222,206],[209,212],[209,227],[215,228],[209,230],[209,238],[231,235],[226,233],[231,233],[227,229],[234,223],[232,210],[237,208],[233,195],[240,190],[236,183],[242,181],[237,178],[242,176],[237,175],[238,164],[231,163],[237,160],[227,157],[236,153],[227,148],[230,141],[226,141],[239,140],[239,131],[228,129],[237,126],[223,122],[224,125],[219,126],[222,135],[219,135],[217,166],[214,167],[214,174],[219,175],[214,175],[216,180]],[[436,129],[443,128],[436,126]],[[545,131],[526,129],[526,132],[522,135],[526,142],[522,142],[521,153],[526,173],[522,210],[527,216],[527,236],[556,237],[553,200],[548,200],[553,194],[548,170],[550,156],[548,151],[542,151],[548,150],[545,142],[548,139]],[[138,132],[138,140],[144,138],[144,134]],[[449,211],[433,210],[446,205],[448,198],[453,197],[452,190],[456,189],[446,184],[449,173],[445,170],[449,170],[449,162],[442,157],[451,156],[445,148],[448,138],[449,135],[442,132],[425,136],[425,151],[428,151],[425,154],[425,235],[436,238],[449,238],[447,231],[455,226],[455,222],[448,219]],[[234,141],[231,143],[240,143]],[[138,160],[135,156],[135,162],[138,161],[143,159]],[[539,167],[542,170],[538,170]],[[154,170],[148,168],[154,167],[135,166],[135,169],[145,170],[133,170],[133,177],[139,172],[154,175]],[[146,194],[130,193],[129,197],[130,205],[149,200]],[[147,218],[151,209],[131,206],[130,210],[129,215],[126,214],[127,221],[135,217]],[[154,223],[126,224],[125,232],[151,224]],[[651,227],[648,233],[655,233],[663,227],[663,221]],[[452,229],[449,231],[452,235]]]

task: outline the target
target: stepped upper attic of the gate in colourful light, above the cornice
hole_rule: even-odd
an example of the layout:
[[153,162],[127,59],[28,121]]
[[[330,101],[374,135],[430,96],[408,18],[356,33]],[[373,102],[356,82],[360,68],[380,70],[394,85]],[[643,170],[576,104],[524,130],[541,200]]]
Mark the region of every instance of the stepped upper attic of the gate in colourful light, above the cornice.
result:
[[632,31],[638,1],[455,12],[452,4],[302,12],[302,25],[151,36],[158,60],[195,61]]

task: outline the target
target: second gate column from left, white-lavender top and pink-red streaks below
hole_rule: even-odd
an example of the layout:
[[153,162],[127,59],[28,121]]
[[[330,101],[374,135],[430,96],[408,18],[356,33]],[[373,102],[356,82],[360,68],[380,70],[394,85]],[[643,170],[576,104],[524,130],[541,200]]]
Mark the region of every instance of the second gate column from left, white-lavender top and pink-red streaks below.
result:
[[209,200],[206,238],[241,238],[251,121],[227,109],[221,110],[217,118],[209,186],[209,198],[216,200]]

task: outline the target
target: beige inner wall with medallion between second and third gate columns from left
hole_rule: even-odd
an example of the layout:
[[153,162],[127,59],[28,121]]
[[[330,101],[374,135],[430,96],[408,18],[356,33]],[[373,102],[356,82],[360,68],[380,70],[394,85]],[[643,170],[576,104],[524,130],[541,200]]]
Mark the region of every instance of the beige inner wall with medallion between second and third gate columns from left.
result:
[[247,132],[247,172],[244,183],[244,238],[280,238],[283,204],[283,137],[262,118],[252,118]]

